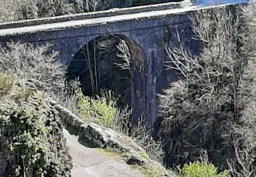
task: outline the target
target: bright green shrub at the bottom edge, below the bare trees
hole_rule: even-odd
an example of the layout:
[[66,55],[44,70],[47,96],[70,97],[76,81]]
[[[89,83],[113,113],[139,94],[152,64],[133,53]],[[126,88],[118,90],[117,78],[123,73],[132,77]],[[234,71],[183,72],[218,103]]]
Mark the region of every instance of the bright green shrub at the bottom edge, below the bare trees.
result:
[[205,161],[185,164],[181,170],[184,177],[227,177],[227,171],[217,173],[217,167]]

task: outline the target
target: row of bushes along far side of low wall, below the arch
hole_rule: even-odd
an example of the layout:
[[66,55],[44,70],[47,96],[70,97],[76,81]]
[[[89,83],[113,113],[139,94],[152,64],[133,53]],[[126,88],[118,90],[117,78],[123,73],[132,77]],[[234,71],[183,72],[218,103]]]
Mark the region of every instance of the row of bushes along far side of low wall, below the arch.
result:
[[61,101],[63,105],[71,108],[87,123],[95,122],[132,137],[134,142],[141,146],[151,159],[162,162],[163,142],[152,137],[153,129],[145,123],[143,117],[139,118],[139,123],[136,126],[133,126],[132,110],[129,106],[122,109],[117,108],[117,99],[113,97],[113,92],[105,92],[101,94],[101,97],[97,96],[96,99],[93,99],[83,95],[79,86],[81,84],[77,80],[70,82],[65,91],[66,101]]

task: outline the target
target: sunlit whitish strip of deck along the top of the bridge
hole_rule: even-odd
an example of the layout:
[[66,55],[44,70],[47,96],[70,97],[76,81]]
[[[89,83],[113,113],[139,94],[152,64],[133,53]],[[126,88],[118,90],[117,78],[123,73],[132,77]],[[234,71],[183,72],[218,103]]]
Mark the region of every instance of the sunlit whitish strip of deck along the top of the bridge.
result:
[[[223,5],[216,5],[211,7],[219,7],[219,6],[223,6]],[[169,14],[182,14],[189,11],[207,9],[207,8],[210,8],[210,7],[190,6],[190,7],[184,7],[184,8],[172,9],[172,10],[159,10],[159,11],[152,11],[152,12],[141,12],[136,14],[124,14],[119,16],[91,18],[91,19],[85,19],[85,20],[69,20],[65,22],[55,22],[50,24],[33,25],[28,27],[0,29],[0,37],[8,36],[8,35],[10,36],[21,35],[25,33],[36,33],[41,31],[61,31],[64,29],[105,25],[108,23],[119,22],[119,21],[141,20],[145,18],[159,18],[159,17],[167,16]]]

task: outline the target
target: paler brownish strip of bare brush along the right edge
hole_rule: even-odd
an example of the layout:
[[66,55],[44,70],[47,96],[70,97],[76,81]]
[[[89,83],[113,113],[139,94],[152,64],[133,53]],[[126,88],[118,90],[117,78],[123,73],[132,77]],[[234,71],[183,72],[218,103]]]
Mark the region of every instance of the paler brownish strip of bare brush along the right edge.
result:
[[233,129],[233,148],[235,157],[229,158],[231,176],[256,176],[256,5],[251,4],[242,10],[247,26],[249,53],[248,63],[240,83],[240,102],[243,110]]

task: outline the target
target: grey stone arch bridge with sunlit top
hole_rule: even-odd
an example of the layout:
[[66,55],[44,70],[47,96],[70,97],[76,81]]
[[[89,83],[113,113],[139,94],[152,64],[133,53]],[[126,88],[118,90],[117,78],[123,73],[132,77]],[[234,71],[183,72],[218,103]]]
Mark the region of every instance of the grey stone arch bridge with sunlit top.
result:
[[[223,5],[212,6],[221,7]],[[190,50],[197,51],[193,41],[190,16],[199,9],[212,7],[164,3],[104,12],[90,12],[54,18],[24,20],[0,24],[0,44],[20,41],[31,44],[54,44],[59,59],[69,65],[74,55],[91,40],[102,35],[119,35],[131,53],[131,94],[134,112],[146,115],[150,125],[157,117],[157,94],[173,80],[164,68],[164,43],[175,40],[179,31]]]

